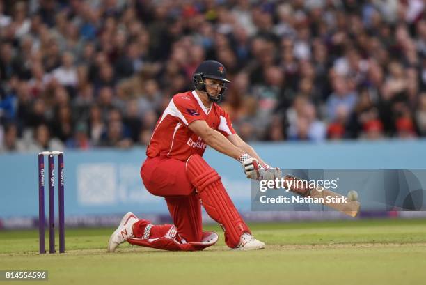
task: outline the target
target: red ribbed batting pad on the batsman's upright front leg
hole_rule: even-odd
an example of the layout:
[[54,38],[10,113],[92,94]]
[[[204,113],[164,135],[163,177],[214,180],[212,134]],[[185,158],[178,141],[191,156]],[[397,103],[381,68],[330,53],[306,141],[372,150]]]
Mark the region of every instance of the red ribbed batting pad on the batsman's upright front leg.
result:
[[200,155],[188,158],[187,175],[196,187],[207,214],[222,225],[226,245],[237,247],[242,234],[251,232],[223,187],[221,176]]

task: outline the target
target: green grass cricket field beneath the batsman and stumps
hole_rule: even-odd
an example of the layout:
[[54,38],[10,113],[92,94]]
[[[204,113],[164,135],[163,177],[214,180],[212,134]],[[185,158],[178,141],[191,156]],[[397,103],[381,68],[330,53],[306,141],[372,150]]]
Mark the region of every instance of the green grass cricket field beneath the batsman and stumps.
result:
[[[221,233],[218,226],[205,229]],[[426,284],[425,219],[252,224],[251,229],[266,249],[229,250],[221,233],[218,244],[203,252],[123,244],[107,253],[113,229],[68,229],[65,254],[39,255],[37,231],[0,231],[0,270],[49,270],[49,281],[36,284]],[[19,283],[29,284],[10,282]]]

